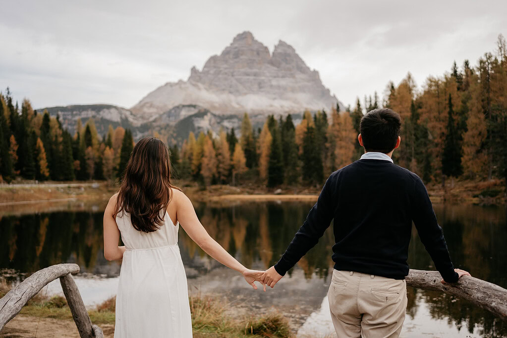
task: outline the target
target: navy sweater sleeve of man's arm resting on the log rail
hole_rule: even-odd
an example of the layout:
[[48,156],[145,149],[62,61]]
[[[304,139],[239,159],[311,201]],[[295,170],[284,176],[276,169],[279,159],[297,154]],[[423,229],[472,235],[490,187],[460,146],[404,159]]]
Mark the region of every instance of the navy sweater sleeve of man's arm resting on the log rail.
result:
[[420,178],[417,178],[415,182],[412,220],[421,238],[421,242],[424,244],[429,256],[431,256],[442,278],[448,283],[456,282],[458,274],[454,271],[444,233],[437,222],[437,216],[433,211],[428,192]]

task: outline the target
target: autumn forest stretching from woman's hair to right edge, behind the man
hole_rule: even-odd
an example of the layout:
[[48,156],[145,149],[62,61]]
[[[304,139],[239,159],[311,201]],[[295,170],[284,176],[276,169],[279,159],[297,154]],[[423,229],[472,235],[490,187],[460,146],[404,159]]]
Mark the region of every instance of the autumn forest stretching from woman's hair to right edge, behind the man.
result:
[[507,56],[500,34],[495,53],[485,53],[471,66],[456,62],[442,76],[429,76],[421,90],[410,73],[395,86],[390,81],[384,99],[365,96],[363,106],[329,114],[305,112],[294,124],[291,115],[269,116],[262,129],[252,130],[243,117],[239,139],[234,130],[218,138],[190,133],[174,163],[182,177],[204,185],[229,183],[253,172],[268,187],[281,184],[321,184],[333,171],[358,159],[357,142],[364,113],[388,107],[402,117],[402,143],[394,163],[418,174],[425,183],[446,179],[491,180],[507,177]]

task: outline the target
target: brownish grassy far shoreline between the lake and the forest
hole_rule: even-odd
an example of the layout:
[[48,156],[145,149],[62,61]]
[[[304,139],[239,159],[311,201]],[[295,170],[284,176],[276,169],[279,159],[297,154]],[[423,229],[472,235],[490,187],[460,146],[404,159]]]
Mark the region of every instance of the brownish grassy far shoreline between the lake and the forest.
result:
[[[269,189],[255,184],[242,186],[210,185],[200,188],[194,181],[176,181],[196,202],[241,202],[241,201],[316,201],[320,186],[280,186]],[[504,184],[502,180],[455,182],[444,189],[440,185],[427,185],[433,203],[471,203],[504,205]],[[33,184],[0,185],[0,207],[15,207],[31,203],[58,202],[103,202],[116,193],[118,186],[107,181],[46,182]]]

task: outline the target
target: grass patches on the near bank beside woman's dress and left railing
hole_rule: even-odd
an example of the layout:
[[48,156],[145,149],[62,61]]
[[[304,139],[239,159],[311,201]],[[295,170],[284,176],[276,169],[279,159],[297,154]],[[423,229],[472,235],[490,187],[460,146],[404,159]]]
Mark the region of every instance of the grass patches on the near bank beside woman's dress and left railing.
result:
[[[0,286],[0,297],[4,297],[7,291],[8,287],[3,283]],[[216,298],[190,297],[189,301],[194,337],[289,337],[291,335],[287,320],[278,313],[234,318],[226,314],[225,306]],[[114,325],[115,304],[116,298],[111,298],[96,308],[88,310],[92,323],[99,326],[101,324]],[[33,297],[18,316],[35,323],[38,318],[73,321],[64,297],[56,295],[49,298],[41,293]],[[9,330],[8,326],[9,324],[6,326],[7,330]],[[6,333],[4,330],[2,334]]]

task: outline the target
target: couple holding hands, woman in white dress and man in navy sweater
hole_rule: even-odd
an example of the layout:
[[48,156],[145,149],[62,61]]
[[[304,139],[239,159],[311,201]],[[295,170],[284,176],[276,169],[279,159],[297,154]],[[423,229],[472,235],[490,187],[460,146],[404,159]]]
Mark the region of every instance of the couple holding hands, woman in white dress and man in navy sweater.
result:
[[[141,139],[104,212],[104,257],[122,260],[115,337],[192,336],[179,225],[209,256],[265,290],[317,244],[332,220],[335,265],[328,299],[338,337],[399,336],[412,222],[443,283],[469,275],[454,269],[421,179],[391,159],[400,130],[400,115],[391,109],[363,116],[357,139],[365,154],[329,176],[285,253],[266,271],[246,269],[208,235],[189,198],[171,184],[165,144]],[[125,246],[118,245],[120,235]]]

